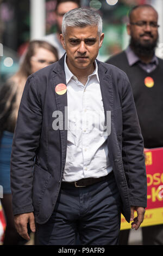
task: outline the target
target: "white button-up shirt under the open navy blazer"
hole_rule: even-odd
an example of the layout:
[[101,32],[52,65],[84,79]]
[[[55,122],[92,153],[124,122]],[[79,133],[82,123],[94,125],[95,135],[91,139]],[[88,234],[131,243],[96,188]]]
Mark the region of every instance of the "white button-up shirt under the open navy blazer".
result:
[[84,86],[68,69],[67,154],[62,181],[72,182],[88,177],[102,177],[112,171],[109,162],[105,115],[98,67],[88,76]]

